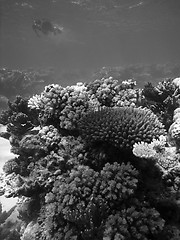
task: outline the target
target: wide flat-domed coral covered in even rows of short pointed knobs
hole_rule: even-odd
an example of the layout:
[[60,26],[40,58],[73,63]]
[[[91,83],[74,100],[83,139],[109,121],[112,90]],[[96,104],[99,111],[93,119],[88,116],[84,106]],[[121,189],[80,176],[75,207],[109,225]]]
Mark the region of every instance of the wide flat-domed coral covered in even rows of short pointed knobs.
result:
[[78,122],[88,143],[107,142],[120,149],[132,149],[135,142],[151,142],[166,133],[149,109],[135,107],[102,108],[91,111]]

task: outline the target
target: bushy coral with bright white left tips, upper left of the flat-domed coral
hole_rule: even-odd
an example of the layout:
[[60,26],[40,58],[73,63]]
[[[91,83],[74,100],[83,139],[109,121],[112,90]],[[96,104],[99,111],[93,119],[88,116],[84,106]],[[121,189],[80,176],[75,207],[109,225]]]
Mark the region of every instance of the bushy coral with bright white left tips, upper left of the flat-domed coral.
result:
[[73,129],[88,107],[86,87],[81,83],[66,88],[51,84],[40,96],[30,98],[28,106],[39,110],[42,124],[56,121],[56,127]]

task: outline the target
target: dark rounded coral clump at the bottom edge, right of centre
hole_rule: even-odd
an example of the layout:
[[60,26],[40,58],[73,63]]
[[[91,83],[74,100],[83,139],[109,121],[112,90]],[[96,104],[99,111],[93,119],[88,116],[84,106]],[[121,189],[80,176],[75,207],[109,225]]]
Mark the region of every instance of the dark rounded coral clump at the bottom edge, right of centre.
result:
[[157,239],[164,223],[156,209],[151,208],[147,203],[140,203],[139,206],[123,208],[110,215],[106,221],[104,239]]

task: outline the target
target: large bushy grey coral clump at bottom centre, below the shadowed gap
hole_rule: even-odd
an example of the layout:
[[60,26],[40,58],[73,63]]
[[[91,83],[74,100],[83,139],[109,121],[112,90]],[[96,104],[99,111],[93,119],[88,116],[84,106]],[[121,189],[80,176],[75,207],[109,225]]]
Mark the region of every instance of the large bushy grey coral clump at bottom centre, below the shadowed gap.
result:
[[[55,181],[52,192],[46,195],[46,208],[54,206],[57,219],[59,215],[74,226],[77,237],[102,239],[110,209],[120,208],[134,194],[136,177],[137,171],[130,164],[106,164],[100,173],[79,166],[68,177]],[[56,218],[52,218],[51,226],[57,225]]]

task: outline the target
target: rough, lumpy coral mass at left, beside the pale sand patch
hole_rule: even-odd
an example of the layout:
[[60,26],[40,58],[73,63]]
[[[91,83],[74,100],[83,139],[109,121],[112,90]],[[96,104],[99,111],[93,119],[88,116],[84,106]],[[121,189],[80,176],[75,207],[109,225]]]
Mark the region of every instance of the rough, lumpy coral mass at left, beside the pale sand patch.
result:
[[[48,133],[53,133],[49,140],[41,139]],[[4,187],[6,196],[30,196],[42,189],[49,189],[55,176],[67,172],[82,161],[83,145],[80,139],[73,136],[62,137],[57,133],[57,129],[49,126],[39,130],[37,135],[22,138],[18,147],[20,156],[4,166],[7,174]]]

